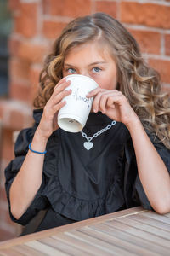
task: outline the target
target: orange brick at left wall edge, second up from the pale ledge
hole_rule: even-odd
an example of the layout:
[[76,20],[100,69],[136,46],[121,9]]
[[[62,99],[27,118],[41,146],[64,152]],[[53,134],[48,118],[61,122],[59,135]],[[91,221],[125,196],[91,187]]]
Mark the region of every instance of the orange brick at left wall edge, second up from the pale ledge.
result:
[[18,58],[9,61],[9,76],[13,79],[29,79],[30,63]]

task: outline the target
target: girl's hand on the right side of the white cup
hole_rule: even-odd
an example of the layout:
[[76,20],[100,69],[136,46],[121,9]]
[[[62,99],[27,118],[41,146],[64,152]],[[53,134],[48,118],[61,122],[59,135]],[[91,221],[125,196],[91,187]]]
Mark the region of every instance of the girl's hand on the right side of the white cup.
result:
[[101,111],[110,119],[122,122],[124,125],[133,124],[139,120],[133,108],[127,102],[127,98],[119,90],[105,90],[97,88],[88,93],[87,97],[94,96],[94,112]]

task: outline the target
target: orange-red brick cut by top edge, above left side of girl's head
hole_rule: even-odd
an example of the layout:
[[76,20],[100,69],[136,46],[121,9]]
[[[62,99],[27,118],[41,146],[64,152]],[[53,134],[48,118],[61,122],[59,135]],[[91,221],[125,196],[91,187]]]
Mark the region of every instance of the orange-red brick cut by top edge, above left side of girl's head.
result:
[[90,0],[49,0],[50,15],[59,16],[82,16],[88,15],[91,12]]

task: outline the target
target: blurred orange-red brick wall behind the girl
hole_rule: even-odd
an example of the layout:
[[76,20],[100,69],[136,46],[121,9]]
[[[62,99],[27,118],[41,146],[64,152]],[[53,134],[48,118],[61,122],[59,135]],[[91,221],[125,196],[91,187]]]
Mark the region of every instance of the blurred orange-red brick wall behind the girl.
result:
[[10,88],[0,100],[0,240],[20,232],[8,217],[3,169],[14,156],[14,131],[31,125],[31,102],[37,90],[43,56],[73,17],[97,11],[112,15],[132,32],[152,67],[161,73],[163,89],[170,91],[170,1],[140,0],[10,0],[14,17],[9,40]]

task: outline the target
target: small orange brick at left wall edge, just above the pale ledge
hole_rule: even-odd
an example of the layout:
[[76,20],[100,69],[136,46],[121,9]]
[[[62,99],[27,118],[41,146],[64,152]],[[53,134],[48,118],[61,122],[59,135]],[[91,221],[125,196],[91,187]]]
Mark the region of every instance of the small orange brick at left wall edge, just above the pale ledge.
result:
[[30,102],[30,86],[22,82],[10,83],[10,97],[14,100],[20,100],[22,102]]

